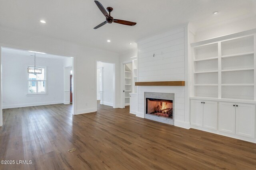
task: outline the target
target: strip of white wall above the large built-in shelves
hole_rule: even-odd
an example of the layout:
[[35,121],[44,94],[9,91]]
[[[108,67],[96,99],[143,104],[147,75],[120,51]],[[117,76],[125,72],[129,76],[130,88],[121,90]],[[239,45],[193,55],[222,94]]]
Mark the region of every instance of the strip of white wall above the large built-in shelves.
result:
[[248,18],[234,18],[208,27],[198,28],[195,34],[195,42],[239,33],[256,28],[256,16]]

